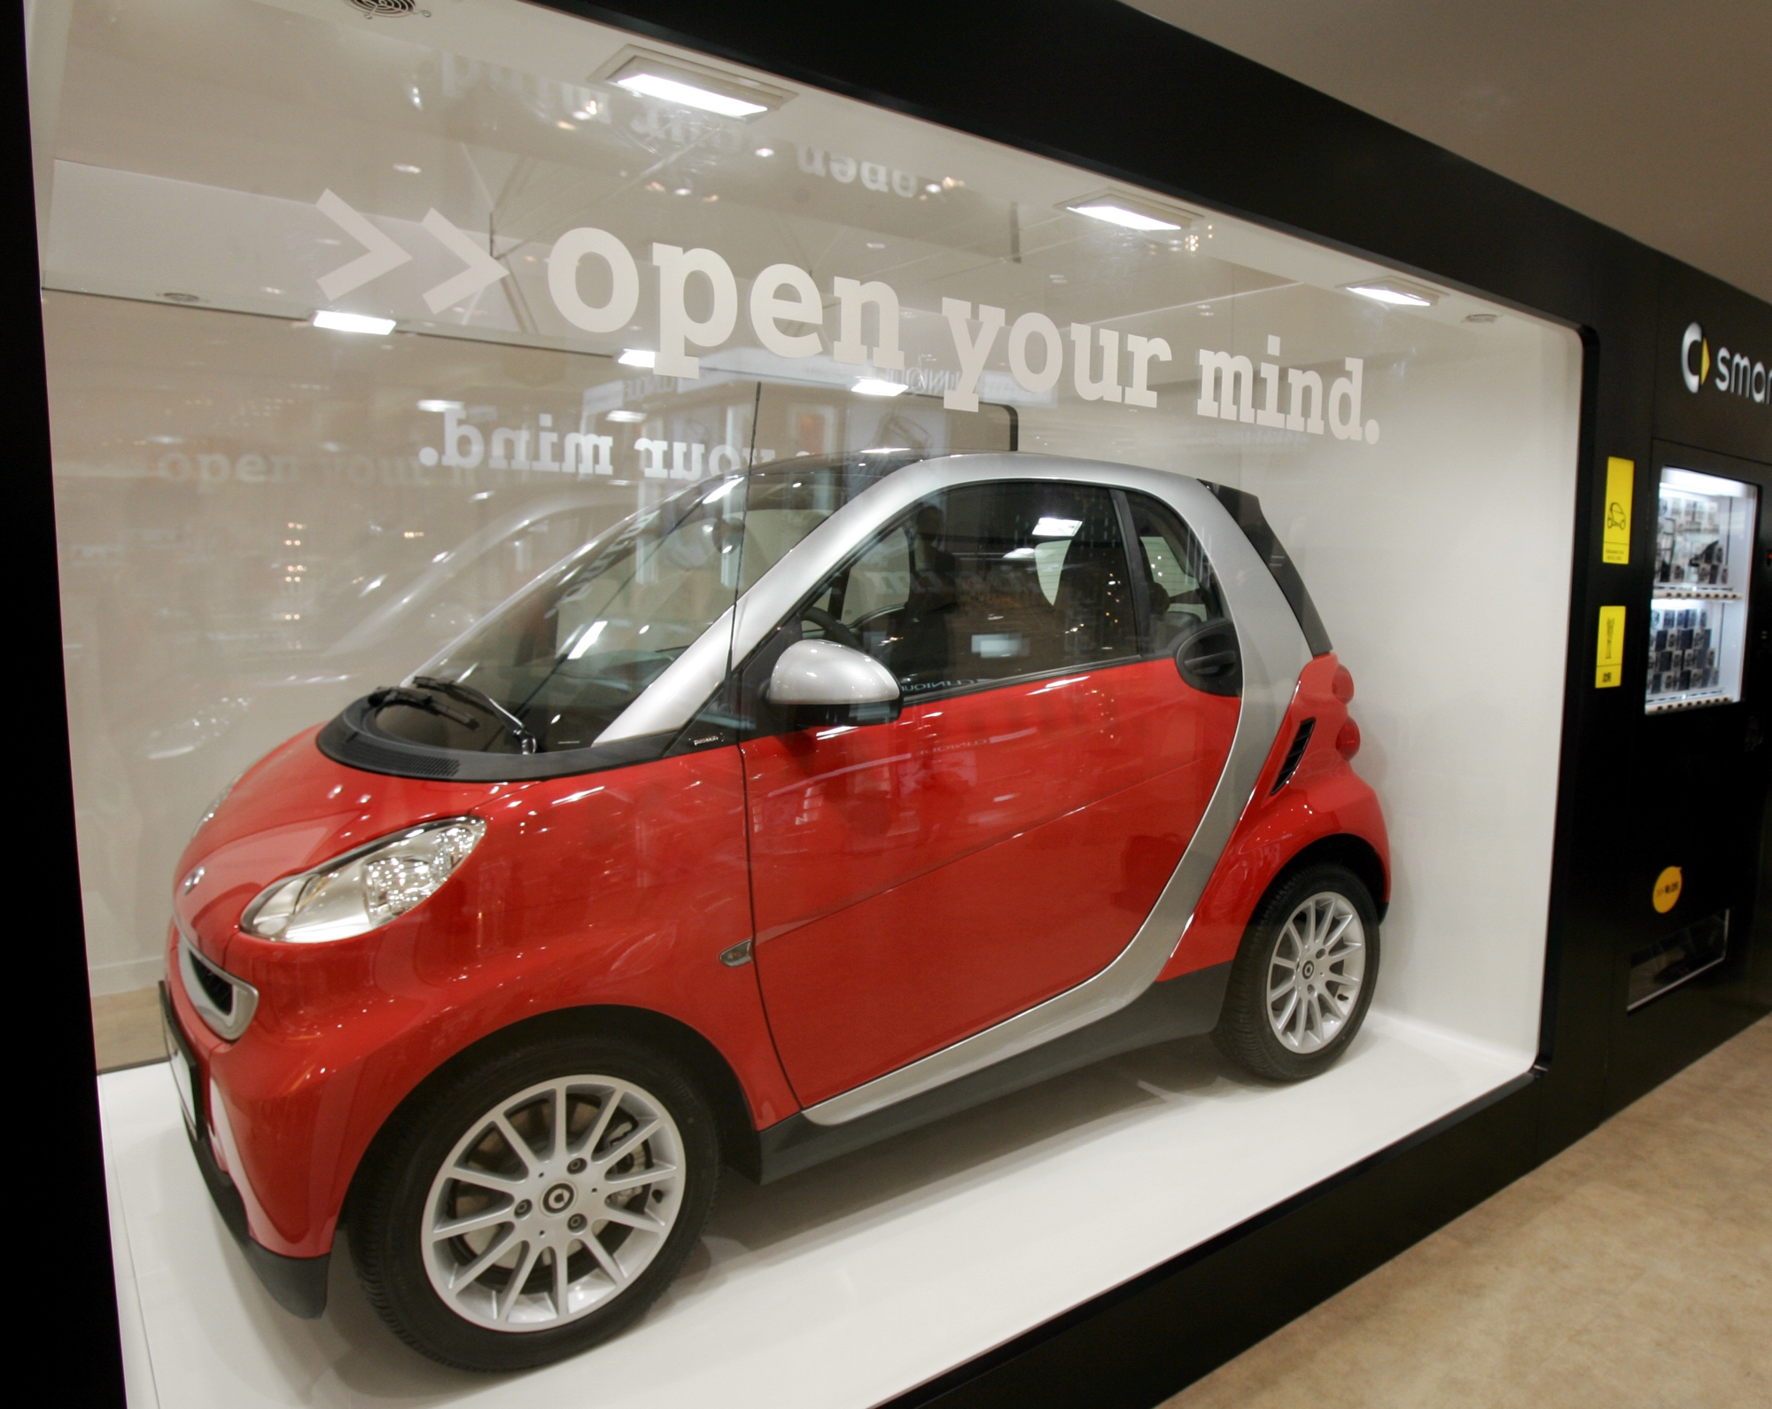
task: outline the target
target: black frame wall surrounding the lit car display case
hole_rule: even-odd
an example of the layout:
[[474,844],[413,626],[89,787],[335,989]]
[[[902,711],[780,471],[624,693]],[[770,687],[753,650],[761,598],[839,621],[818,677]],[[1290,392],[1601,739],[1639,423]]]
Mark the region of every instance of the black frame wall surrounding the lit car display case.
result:
[[[1772,486],[1772,416],[1715,397],[1683,401],[1676,362],[1689,319],[1728,324],[1737,339],[1772,351],[1772,305],[1115,0],[955,0],[920,25],[813,0],[767,7],[544,2],[1354,250],[1566,323],[1582,337],[1568,686],[1536,1065],[897,1404],[1154,1404],[1549,1159],[1772,1008],[1772,867],[1765,863],[1772,748],[1745,744],[1772,732],[1763,720],[1772,702],[1768,643],[1751,656],[1742,705],[1694,712],[1682,723],[1680,746],[1699,766],[1733,769],[1738,778],[1729,803],[1729,815],[1740,819],[1738,844],[1694,877],[1694,897],[1728,897],[1742,936],[1738,957],[1632,1014],[1630,1023],[1620,1001],[1627,954],[1662,922],[1650,907],[1653,856],[1643,844],[1655,833],[1644,730],[1666,718],[1644,720],[1643,712],[1653,514],[1641,505],[1655,502],[1657,441],[1719,464],[1729,457],[1745,466],[1737,477]],[[12,16],[4,179],[14,253],[5,278],[25,344],[5,390],[21,470],[21,546],[12,562],[18,599],[28,604],[19,631],[25,668],[30,679],[55,681],[60,620],[25,35],[21,11]],[[1621,567],[1600,555],[1611,455],[1637,466],[1639,510],[1630,564]],[[1754,638],[1768,620],[1772,592],[1768,519],[1763,512]],[[1627,672],[1616,689],[1593,686],[1597,615],[1605,603],[1641,603],[1636,620],[1627,617]],[[27,766],[32,829],[41,838],[34,883],[44,916],[25,946],[21,991],[32,994],[41,1031],[27,1067],[39,1099],[73,1117],[73,1168],[64,1175],[67,1216],[39,1219],[28,1237],[44,1242],[43,1255],[53,1242],[62,1257],[73,1249],[89,1265],[103,1265],[110,1242],[89,1076],[67,718],[53,688],[30,709],[34,730],[46,739]],[[1643,1014],[1652,1021],[1634,1023]],[[69,1228],[71,1221],[78,1226]],[[110,1294],[108,1285],[97,1288],[97,1315],[82,1327],[85,1352],[64,1366],[64,1386],[80,1402],[122,1402],[113,1303],[103,1326]],[[55,1331],[66,1335],[67,1326],[57,1322]]]

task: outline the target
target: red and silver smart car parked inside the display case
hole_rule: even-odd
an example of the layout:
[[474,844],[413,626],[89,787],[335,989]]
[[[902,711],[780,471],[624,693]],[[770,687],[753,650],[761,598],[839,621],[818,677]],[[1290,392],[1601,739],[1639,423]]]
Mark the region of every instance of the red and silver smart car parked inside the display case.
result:
[[252,767],[184,852],[167,1033],[276,1299],[340,1225],[436,1359],[629,1324],[769,1180],[1372,1001],[1354,695],[1249,494],[1024,454],[696,484]]

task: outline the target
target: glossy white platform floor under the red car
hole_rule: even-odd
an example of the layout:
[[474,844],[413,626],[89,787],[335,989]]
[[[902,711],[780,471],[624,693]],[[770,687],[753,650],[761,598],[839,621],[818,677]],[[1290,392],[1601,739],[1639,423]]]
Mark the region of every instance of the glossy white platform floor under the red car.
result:
[[165,1065],[99,1078],[131,1409],[840,1409],[904,1393],[1519,1076],[1529,1055],[1373,1012],[1301,1086],[1205,1039],[1102,1062],[767,1189],[728,1177],[624,1336],[528,1375],[400,1345],[333,1258],[282,1312],[209,1202]]

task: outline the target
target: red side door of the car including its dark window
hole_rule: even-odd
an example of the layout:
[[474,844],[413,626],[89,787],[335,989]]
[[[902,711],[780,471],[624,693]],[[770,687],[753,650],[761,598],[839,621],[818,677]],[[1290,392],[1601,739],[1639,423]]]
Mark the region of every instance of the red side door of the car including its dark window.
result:
[[[1217,610],[1194,580],[1155,585],[1198,558],[1185,528],[1146,551],[1131,525],[1104,486],[946,489],[886,525],[753,656],[755,962],[801,1101],[1083,982],[1175,870],[1237,698],[1194,689],[1157,650],[1171,633],[1154,634],[1154,596],[1187,620]],[[806,636],[882,661],[902,712],[774,711],[767,672]]]

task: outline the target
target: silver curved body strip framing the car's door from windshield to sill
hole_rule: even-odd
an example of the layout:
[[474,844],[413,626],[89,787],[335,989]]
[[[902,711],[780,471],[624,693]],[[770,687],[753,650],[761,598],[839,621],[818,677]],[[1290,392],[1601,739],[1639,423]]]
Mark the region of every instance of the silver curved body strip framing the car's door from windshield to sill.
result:
[[[913,503],[941,489],[989,480],[1061,480],[1136,489],[1162,500],[1182,516],[1217,572],[1226,610],[1237,627],[1242,652],[1242,707],[1237,716],[1237,734],[1212,799],[1175,874],[1145,923],[1104,969],[1015,1017],[817,1106],[808,1106],[803,1115],[819,1125],[856,1120],[1005,1062],[1118,1012],[1148,989],[1175,954],[1212,868],[1255,792],[1262,764],[1267,762],[1286,705],[1292,702],[1299,672],[1311,658],[1297,617],[1274,574],[1249,546],[1249,539],[1224,505],[1198,480],[1127,464],[1010,452],[925,461],[898,470],[858,494],[789,549],[739,599],[730,659],[744,659],[826,572],[838,567]],[[723,622],[709,629],[707,636],[714,636],[719,626]],[[725,640],[719,645],[725,645]],[[711,670],[714,654],[714,650],[686,650],[599,736],[599,743],[657,734],[688,723],[723,677],[723,659],[719,670]],[[718,654],[725,658],[725,650]],[[691,658],[696,658],[693,666]]]

